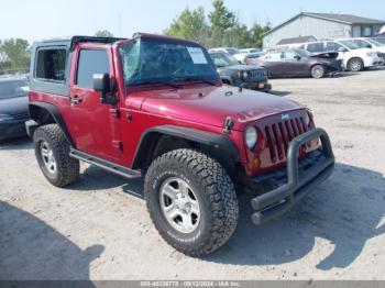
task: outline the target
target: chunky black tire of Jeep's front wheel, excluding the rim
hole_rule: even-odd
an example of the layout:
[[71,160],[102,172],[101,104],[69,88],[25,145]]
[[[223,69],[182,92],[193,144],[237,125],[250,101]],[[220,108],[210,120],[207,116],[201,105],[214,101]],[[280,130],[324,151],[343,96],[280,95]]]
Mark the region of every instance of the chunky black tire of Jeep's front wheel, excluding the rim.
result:
[[[179,177],[194,188],[201,207],[198,226],[189,234],[175,230],[160,203],[162,184]],[[228,173],[213,158],[193,149],[175,149],[150,166],[144,196],[150,217],[162,237],[177,251],[199,257],[222,246],[238,224],[238,198]]]

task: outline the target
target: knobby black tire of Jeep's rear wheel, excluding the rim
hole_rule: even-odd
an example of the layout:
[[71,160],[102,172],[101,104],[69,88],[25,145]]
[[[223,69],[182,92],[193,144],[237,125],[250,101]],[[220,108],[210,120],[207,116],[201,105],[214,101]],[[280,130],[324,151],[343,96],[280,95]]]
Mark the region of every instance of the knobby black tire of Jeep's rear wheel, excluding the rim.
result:
[[[51,173],[43,160],[41,145],[46,142],[56,160],[56,173]],[[79,177],[79,160],[69,156],[70,144],[57,124],[40,126],[33,134],[35,156],[45,178],[56,187],[65,187]]]

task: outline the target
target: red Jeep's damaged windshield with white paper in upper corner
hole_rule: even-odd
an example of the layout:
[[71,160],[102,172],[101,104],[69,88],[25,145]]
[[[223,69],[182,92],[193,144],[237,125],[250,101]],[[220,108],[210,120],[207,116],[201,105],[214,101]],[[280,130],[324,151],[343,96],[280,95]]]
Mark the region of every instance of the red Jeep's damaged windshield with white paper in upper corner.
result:
[[120,58],[127,85],[219,80],[206,49],[197,44],[141,38],[122,45]]

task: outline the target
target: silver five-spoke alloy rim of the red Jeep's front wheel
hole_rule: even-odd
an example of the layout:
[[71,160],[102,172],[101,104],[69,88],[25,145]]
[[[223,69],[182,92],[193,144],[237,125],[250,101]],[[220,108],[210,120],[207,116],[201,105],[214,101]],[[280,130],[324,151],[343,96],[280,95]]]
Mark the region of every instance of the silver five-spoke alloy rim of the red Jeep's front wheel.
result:
[[161,187],[160,202],[168,224],[180,233],[194,232],[200,221],[200,206],[193,188],[183,179],[172,177]]

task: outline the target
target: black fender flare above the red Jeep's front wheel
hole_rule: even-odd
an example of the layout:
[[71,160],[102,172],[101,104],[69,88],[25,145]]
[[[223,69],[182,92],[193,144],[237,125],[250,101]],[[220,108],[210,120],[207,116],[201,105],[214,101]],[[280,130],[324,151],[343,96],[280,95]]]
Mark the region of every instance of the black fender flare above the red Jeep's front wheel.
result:
[[226,156],[227,162],[229,162],[229,159],[233,162],[239,159],[239,151],[235,144],[224,134],[217,134],[185,126],[161,125],[151,128],[142,133],[132,162],[133,169],[141,167],[141,164],[148,154],[148,149],[152,145],[151,140],[154,135],[175,136],[202,144],[209,148],[210,153]]

